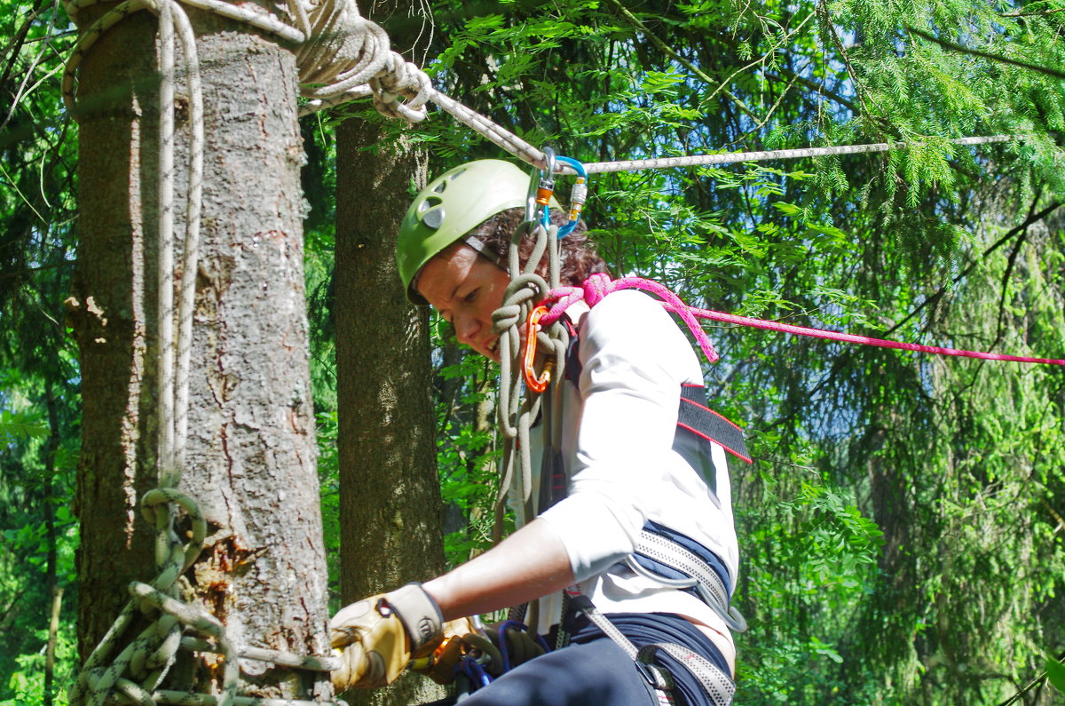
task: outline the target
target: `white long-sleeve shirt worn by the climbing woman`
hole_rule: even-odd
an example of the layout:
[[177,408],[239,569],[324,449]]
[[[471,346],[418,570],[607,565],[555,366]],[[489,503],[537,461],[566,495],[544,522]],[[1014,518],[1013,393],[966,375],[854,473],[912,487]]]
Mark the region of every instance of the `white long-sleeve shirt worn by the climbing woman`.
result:
[[[714,444],[702,468],[674,450],[681,385],[703,384],[691,344],[656,300],[634,290],[609,294],[590,310],[578,303],[567,314],[578,332],[581,365],[578,385],[558,383],[569,490],[540,517],[558,534],[581,592],[600,611],[676,613],[728,636],[695,596],[618,565],[650,519],[711,549],[736,584],[739,551],[724,450]],[[534,429],[531,439],[534,497],[540,432]],[[520,496],[520,488],[511,490],[511,497]],[[515,511],[519,526],[527,522],[521,508]],[[539,632],[558,621],[559,600],[541,598]]]

